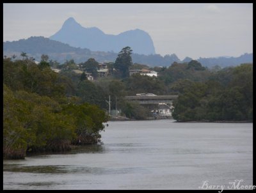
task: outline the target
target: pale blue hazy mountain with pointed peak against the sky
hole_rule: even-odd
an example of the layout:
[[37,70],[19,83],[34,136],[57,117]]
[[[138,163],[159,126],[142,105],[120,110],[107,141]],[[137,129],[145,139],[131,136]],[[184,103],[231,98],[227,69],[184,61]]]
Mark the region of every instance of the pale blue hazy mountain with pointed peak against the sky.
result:
[[119,35],[106,35],[97,27],[83,27],[70,17],[60,31],[49,37],[68,43],[72,47],[87,48],[92,51],[120,52],[126,46],[134,53],[155,54],[154,43],[147,32],[140,29],[125,31]]

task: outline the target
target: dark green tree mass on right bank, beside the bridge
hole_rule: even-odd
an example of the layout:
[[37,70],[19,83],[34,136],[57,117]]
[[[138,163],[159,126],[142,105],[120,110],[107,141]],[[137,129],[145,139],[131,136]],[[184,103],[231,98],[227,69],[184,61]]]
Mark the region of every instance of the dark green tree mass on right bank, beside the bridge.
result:
[[178,121],[252,121],[252,64],[220,70],[214,77],[207,82],[175,82],[173,89],[180,95],[173,104],[173,118]]

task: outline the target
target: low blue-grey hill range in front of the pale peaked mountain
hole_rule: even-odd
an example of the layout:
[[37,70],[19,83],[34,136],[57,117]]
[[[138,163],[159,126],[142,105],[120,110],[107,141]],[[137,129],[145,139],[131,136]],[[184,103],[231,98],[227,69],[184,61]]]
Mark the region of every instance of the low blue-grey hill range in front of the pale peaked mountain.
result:
[[[122,48],[121,48],[122,49]],[[120,49],[120,50],[121,50]],[[133,48],[131,47],[133,50]],[[118,50],[117,52],[119,52]],[[61,43],[42,36],[33,36],[26,40],[22,39],[13,42],[3,42],[3,55],[11,57],[13,54],[17,56],[16,59],[21,59],[21,52],[26,52],[29,57],[33,57],[36,61],[40,61],[42,54],[47,54],[53,61],[56,60],[64,63],[66,60],[74,59],[76,63],[87,61],[89,58],[94,58],[96,61],[115,62],[118,55],[117,52],[95,52],[89,49],[81,49],[71,47],[67,43]],[[132,54],[132,62],[140,63],[148,66],[170,66],[174,61],[177,63],[189,62],[192,58],[186,57],[183,61],[175,55],[161,56],[159,54],[150,54],[148,56],[143,54]],[[203,66],[211,68],[212,66],[236,66],[241,63],[252,63],[253,54],[243,54],[237,58],[235,57],[219,57],[219,58],[199,58],[196,59]]]

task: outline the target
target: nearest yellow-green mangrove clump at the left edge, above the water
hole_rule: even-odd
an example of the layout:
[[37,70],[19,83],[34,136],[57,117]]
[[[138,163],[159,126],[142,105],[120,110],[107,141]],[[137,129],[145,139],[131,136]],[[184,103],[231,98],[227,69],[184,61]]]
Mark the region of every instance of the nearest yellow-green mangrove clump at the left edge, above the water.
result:
[[67,150],[76,136],[72,116],[58,102],[4,86],[4,157],[24,158],[26,151]]

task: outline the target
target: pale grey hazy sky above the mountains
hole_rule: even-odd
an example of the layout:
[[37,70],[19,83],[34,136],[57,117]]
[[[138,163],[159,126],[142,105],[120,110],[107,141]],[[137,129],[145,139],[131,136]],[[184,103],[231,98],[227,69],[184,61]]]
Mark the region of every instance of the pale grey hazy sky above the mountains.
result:
[[162,56],[198,59],[253,52],[252,3],[4,3],[3,40],[48,38],[69,17],[106,34],[147,31]]

